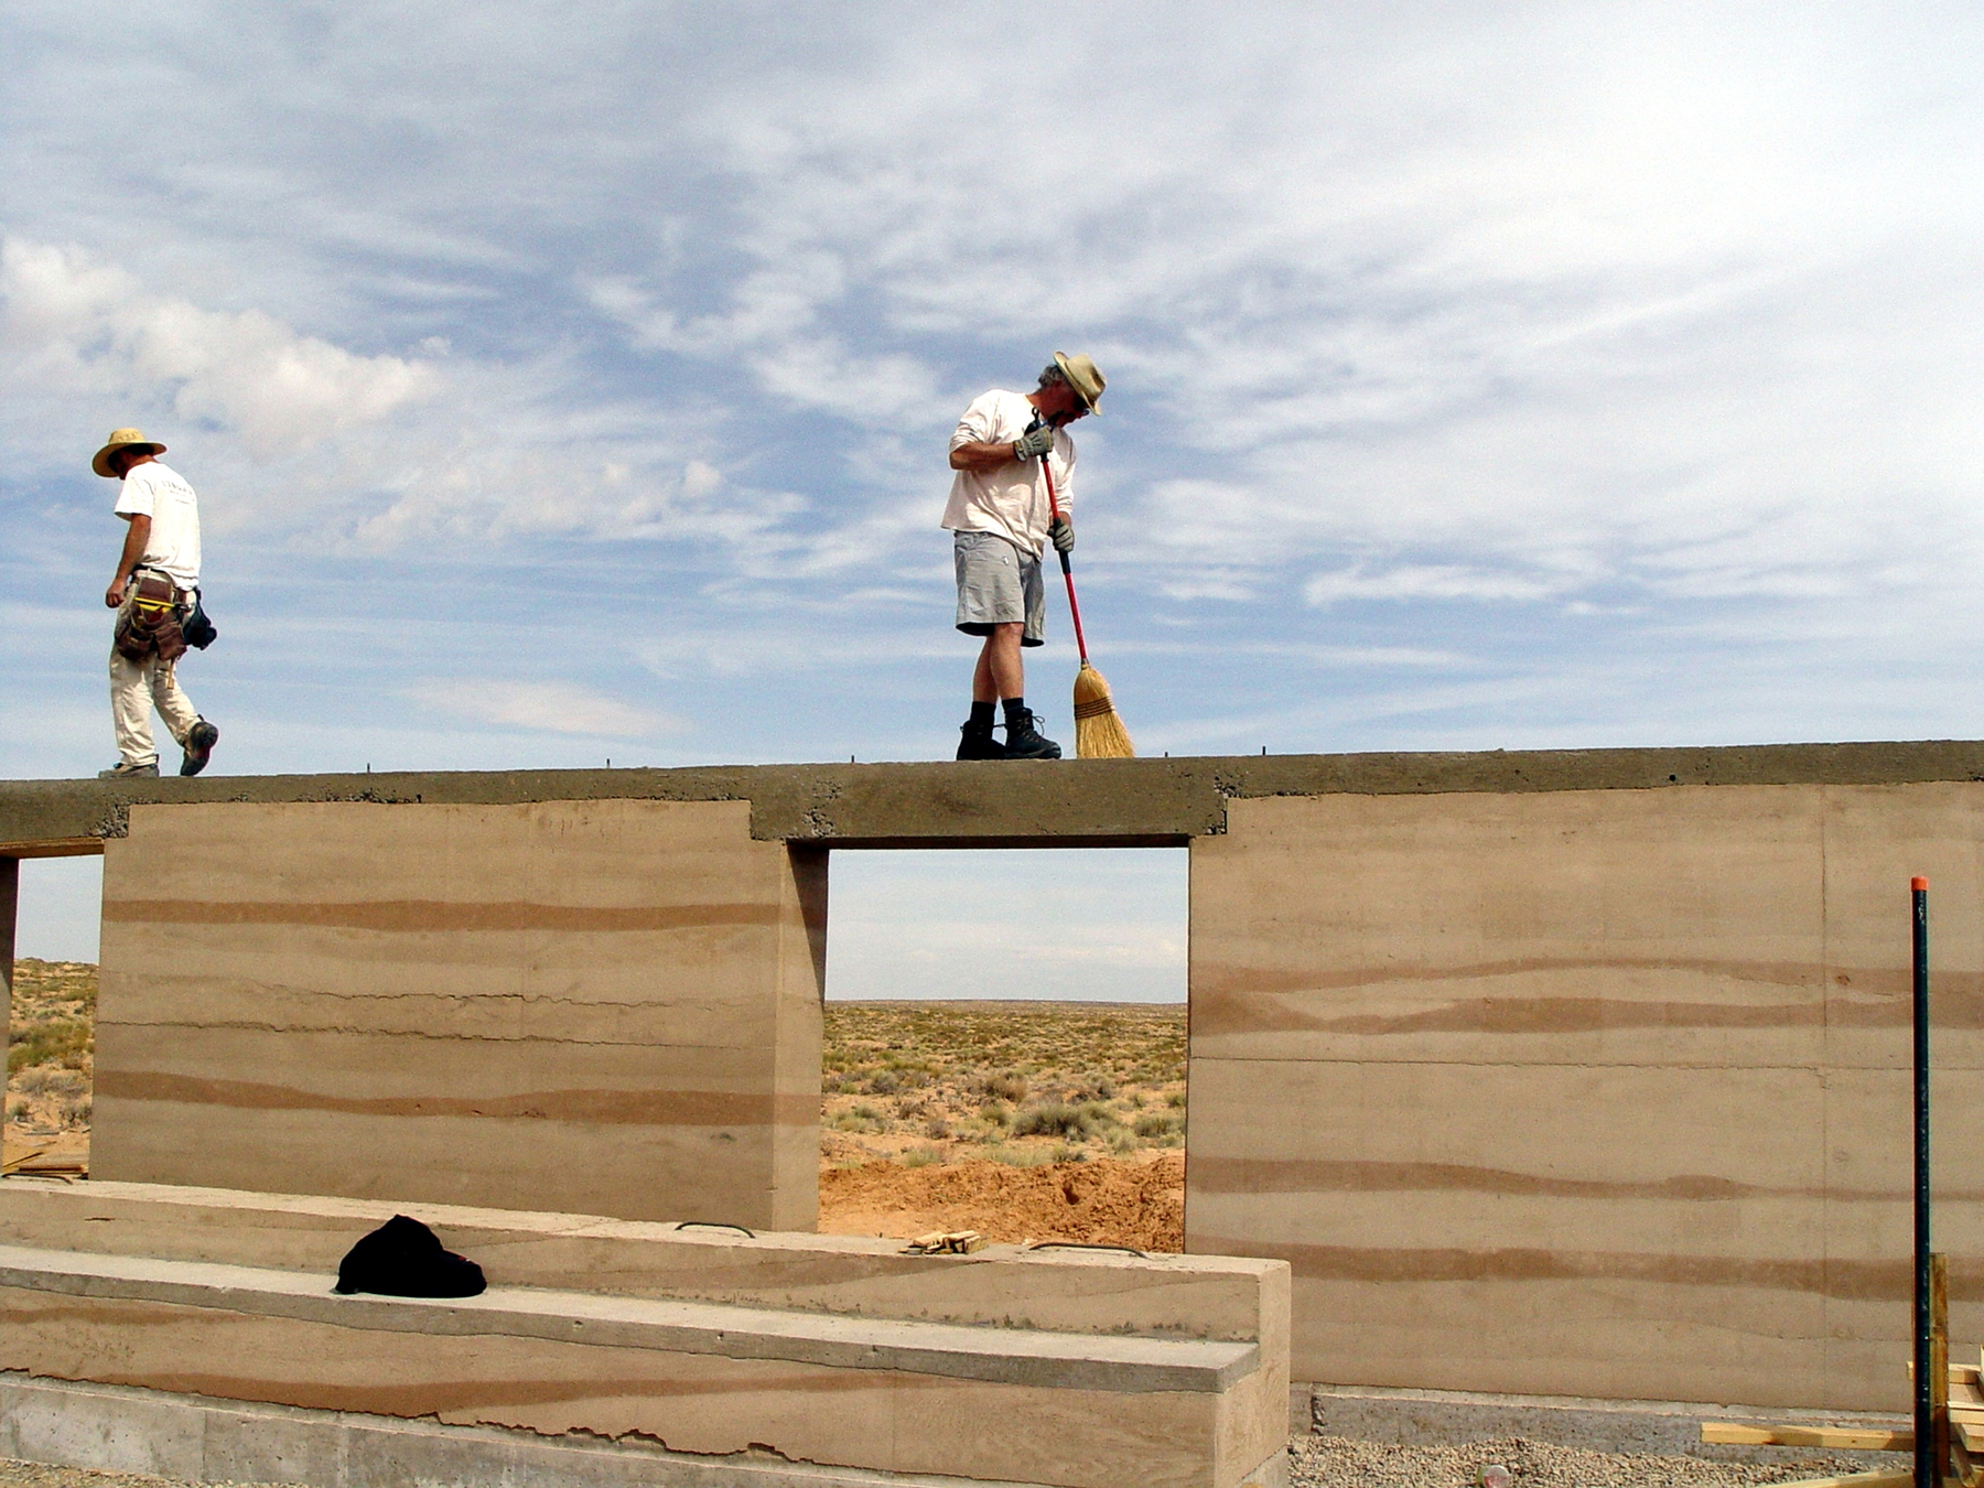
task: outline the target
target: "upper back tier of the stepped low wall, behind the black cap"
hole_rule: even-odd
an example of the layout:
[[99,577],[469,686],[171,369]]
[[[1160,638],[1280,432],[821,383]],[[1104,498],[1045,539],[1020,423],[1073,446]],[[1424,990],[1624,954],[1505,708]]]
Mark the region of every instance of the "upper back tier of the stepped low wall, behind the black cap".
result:
[[[0,1182],[0,1246],[331,1274],[351,1242],[395,1210],[319,1194],[10,1178]],[[972,1256],[909,1256],[899,1240],[855,1234],[742,1236],[454,1204],[421,1204],[419,1216],[496,1286],[966,1327],[1258,1341],[1270,1383],[1288,1383],[1284,1262],[1010,1244]]]

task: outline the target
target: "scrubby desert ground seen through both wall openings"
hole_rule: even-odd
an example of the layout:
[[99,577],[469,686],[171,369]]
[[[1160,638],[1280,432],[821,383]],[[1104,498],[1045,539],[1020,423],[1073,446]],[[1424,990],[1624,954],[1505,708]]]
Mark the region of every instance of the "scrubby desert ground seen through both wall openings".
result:
[[[6,1167],[85,1169],[97,968],[14,962]],[[829,1002],[819,1228],[1184,1246],[1184,1008]]]

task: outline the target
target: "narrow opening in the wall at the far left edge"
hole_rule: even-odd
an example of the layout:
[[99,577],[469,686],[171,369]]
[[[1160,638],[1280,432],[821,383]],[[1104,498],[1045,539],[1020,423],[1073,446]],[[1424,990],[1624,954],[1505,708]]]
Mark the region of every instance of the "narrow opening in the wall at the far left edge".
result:
[[85,1173],[95,1081],[101,857],[20,863],[0,1167]]

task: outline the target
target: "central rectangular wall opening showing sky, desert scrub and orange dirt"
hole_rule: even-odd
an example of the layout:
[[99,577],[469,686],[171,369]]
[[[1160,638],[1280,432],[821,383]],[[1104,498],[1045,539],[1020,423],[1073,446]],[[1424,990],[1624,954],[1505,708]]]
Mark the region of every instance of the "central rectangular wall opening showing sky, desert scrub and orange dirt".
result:
[[819,1228],[1182,1250],[1186,853],[827,875]]

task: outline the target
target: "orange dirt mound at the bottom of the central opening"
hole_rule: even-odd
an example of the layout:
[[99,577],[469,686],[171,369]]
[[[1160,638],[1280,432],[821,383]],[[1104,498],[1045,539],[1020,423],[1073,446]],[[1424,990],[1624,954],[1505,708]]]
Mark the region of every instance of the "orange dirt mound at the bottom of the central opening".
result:
[[825,1234],[911,1238],[978,1230],[988,1240],[1083,1240],[1184,1248],[1184,1155],[1087,1163],[863,1163],[819,1175]]

